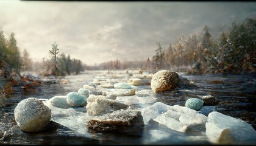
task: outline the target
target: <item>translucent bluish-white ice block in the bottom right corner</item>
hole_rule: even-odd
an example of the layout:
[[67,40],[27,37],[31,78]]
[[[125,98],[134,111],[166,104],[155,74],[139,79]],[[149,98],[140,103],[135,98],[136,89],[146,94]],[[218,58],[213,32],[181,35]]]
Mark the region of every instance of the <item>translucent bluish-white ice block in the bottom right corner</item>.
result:
[[256,144],[256,131],[247,122],[217,111],[208,114],[205,133],[213,144]]

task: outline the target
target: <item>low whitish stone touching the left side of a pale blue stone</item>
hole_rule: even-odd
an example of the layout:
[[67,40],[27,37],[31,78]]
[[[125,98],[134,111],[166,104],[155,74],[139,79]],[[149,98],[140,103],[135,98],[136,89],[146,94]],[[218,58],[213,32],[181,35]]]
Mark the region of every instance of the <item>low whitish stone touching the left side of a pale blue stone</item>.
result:
[[52,106],[57,108],[69,108],[70,105],[66,102],[66,96],[54,96],[48,100]]

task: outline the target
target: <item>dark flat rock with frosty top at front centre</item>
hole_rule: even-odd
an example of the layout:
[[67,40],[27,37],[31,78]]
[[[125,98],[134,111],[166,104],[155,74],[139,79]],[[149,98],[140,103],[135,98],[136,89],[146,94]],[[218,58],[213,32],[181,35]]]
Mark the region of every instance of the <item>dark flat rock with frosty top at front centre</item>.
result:
[[96,116],[88,120],[88,128],[95,131],[112,131],[119,133],[143,130],[143,117],[139,110],[118,110],[113,113]]

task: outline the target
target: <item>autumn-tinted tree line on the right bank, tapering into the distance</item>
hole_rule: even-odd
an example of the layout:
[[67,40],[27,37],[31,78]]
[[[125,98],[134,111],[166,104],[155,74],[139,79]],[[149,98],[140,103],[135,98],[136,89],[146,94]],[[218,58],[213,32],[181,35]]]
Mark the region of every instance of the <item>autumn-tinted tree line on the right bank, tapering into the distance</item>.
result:
[[232,23],[229,32],[221,32],[213,38],[204,26],[199,36],[182,36],[174,44],[163,49],[156,42],[155,55],[145,61],[111,60],[87,66],[86,69],[127,69],[143,70],[171,69],[187,71],[190,74],[223,73],[247,74],[256,71],[256,20],[247,18],[242,23]]

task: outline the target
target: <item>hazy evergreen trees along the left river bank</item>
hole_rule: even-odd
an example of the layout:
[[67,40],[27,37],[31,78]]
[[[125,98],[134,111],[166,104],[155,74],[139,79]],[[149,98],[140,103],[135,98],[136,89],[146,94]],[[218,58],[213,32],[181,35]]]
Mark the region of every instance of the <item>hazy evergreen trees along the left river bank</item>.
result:
[[[52,51],[52,52],[51,52]],[[54,52],[55,51],[55,52]],[[54,52],[54,54],[52,54]],[[12,75],[19,75],[21,72],[35,71],[40,75],[71,75],[84,71],[81,60],[71,58],[64,53],[59,55],[57,44],[52,44],[49,50],[49,59],[46,58],[41,63],[34,62],[26,49],[21,53],[17,46],[15,34],[11,33],[9,40],[0,29],[0,79],[11,78]]]

